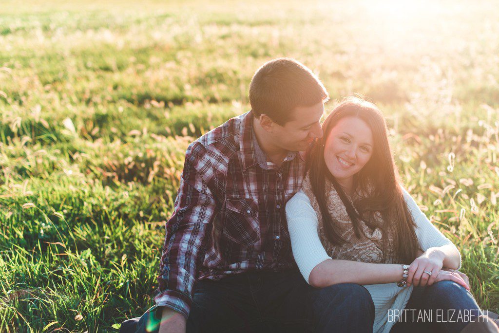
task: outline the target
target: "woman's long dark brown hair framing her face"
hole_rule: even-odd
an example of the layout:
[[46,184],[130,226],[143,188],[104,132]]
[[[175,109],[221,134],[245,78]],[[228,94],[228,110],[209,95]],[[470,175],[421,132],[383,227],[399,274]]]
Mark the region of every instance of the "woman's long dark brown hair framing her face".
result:
[[[355,188],[368,193],[367,197],[355,202],[355,208],[342,186],[329,172],[324,161],[324,144],[334,126],[345,117],[363,120],[370,127],[374,141],[370,160],[354,175]],[[310,184],[319,204],[326,237],[333,244],[345,243],[345,240],[334,229],[332,217],[327,209],[324,177],[331,181],[341,201],[345,204],[355,235],[360,236],[359,219],[363,218],[366,223],[369,223],[369,216],[379,211],[383,218],[383,254],[386,255],[387,246],[393,247],[394,262],[410,264],[416,258],[419,249],[415,232],[416,223],[409,212],[399,185],[400,176],[395,166],[392,149],[388,142],[386,121],[381,111],[371,102],[349,97],[327,116],[322,124],[322,130],[324,135],[314,143],[307,162]],[[393,244],[390,244],[385,237],[388,228],[392,230],[394,236]]]

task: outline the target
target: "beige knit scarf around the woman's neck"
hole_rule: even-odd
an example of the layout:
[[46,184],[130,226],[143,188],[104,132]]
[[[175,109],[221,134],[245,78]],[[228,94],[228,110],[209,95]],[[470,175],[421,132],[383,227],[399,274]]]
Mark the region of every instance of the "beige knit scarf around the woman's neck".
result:
[[[383,220],[381,214],[379,212],[373,214],[368,224],[366,224],[364,220],[359,219],[360,238],[357,238],[353,230],[352,221],[348,216],[346,207],[341,201],[338,192],[336,192],[333,184],[329,180],[324,179],[324,181],[325,191],[328,193],[326,204],[329,210],[329,214],[332,217],[333,227],[335,228],[337,233],[346,241],[341,245],[331,244],[326,237],[324,223],[322,221],[322,214],[320,213],[317,199],[312,192],[310,176],[308,172],[303,179],[301,189],[308,196],[312,207],[317,212],[317,218],[319,220],[319,236],[327,254],[332,259],[361,261],[366,263],[382,263],[382,242],[386,242],[385,244],[393,244],[393,236],[392,232],[389,230],[389,228],[387,228],[387,238],[383,238],[381,229]],[[360,198],[361,196],[361,194],[356,193],[355,197],[353,197],[352,199],[355,200]],[[370,226],[374,226],[374,229]],[[385,256],[385,262],[387,262],[392,257],[393,253],[390,248],[392,248],[392,246],[386,246],[387,253]]]

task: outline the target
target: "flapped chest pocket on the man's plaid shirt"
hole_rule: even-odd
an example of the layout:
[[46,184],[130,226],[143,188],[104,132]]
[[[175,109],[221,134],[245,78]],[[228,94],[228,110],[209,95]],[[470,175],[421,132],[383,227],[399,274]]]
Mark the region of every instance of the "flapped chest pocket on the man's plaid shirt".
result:
[[245,197],[228,197],[225,204],[223,234],[233,242],[252,245],[260,240],[258,201]]

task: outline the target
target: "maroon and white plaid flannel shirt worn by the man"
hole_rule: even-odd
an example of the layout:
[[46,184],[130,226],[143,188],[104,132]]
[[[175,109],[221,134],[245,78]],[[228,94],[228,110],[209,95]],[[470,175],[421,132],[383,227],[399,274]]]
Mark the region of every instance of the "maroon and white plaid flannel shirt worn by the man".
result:
[[201,279],[296,267],[286,201],[301,187],[305,162],[289,152],[279,167],[255,139],[252,112],[193,142],[186,152],[154,298],[186,318]]

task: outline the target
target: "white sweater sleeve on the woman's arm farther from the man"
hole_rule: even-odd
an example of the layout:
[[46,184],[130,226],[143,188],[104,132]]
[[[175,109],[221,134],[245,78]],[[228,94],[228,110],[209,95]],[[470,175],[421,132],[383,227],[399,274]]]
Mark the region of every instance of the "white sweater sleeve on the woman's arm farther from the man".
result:
[[[416,236],[423,251],[428,250],[430,247],[438,247],[443,245],[452,245],[459,253],[459,268],[461,268],[461,253],[454,243],[440,232],[435,225],[426,217],[425,213],[421,211],[416,201],[409,192],[403,187],[402,191],[407,207],[412,214],[414,222],[416,222]],[[459,269],[458,268],[458,269]]]

